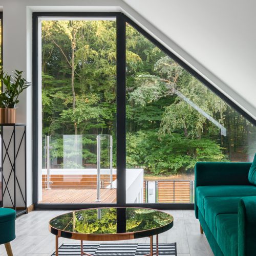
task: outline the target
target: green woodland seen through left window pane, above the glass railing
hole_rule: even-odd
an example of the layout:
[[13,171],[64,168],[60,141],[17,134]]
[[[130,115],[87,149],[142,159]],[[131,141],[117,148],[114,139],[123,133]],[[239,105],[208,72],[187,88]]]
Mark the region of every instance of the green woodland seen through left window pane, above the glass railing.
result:
[[[114,129],[115,26],[115,22],[104,20],[42,22],[43,131],[46,133],[73,134],[74,124],[79,134],[92,130],[109,133]],[[70,85],[72,41],[75,41],[74,106]]]

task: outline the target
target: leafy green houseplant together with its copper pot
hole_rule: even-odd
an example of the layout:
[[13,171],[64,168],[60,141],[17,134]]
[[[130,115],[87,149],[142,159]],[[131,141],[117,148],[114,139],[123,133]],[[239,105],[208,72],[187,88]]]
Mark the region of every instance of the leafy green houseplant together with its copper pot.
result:
[[0,67],[0,80],[5,86],[4,92],[0,92],[0,123],[16,122],[16,104],[18,97],[31,83],[22,77],[23,71],[15,70],[14,76],[8,75],[3,67]]

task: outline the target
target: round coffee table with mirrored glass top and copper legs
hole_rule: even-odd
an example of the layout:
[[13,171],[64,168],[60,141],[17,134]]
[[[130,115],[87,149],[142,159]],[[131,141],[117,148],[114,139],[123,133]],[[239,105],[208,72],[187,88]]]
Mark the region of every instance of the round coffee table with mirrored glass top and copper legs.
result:
[[[150,253],[158,255],[158,234],[172,228],[173,216],[166,212],[135,207],[106,207],[68,212],[50,220],[50,232],[56,236],[56,256],[58,238],[81,241],[81,255],[91,255],[83,251],[83,241],[117,241],[150,237]],[[153,236],[156,235],[156,251],[153,251]]]

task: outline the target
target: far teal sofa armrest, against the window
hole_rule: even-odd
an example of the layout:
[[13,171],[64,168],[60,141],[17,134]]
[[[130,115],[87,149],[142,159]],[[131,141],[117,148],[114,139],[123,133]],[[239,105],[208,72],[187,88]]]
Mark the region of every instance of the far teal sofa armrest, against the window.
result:
[[218,185],[250,185],[248,173],[251,163],[198,162],[195,165],[195,214],[198,218],[197,187]]

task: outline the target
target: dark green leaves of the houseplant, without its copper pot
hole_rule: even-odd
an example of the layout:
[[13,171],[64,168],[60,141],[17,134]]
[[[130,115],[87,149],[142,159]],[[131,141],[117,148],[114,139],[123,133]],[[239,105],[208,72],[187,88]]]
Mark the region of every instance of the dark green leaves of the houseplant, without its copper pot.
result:
[[23,71],[15,70],[12,77],[3,70],[2,66],[0,67],[0,80],[5,85],[5,91],[0,93],[0,108],[15,108],[19,102],[19,94],[31,85],[22,77],[22,74]]

